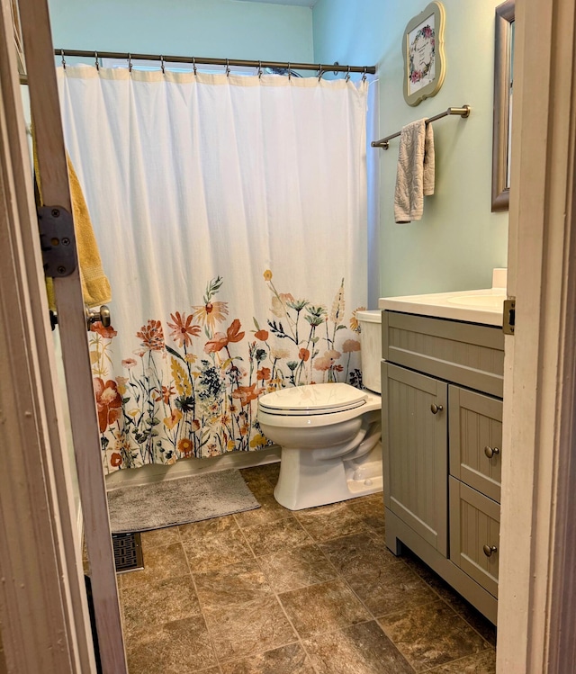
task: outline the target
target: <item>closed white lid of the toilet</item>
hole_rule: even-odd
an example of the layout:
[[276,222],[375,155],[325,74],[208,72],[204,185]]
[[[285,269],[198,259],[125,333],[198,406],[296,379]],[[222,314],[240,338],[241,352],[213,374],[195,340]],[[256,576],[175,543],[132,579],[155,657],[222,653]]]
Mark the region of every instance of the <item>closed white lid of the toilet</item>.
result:
[[365,404],[367,395],[345,383],[306,384],[258,399],[258,407],[269,414],[311,415],[344,412]]

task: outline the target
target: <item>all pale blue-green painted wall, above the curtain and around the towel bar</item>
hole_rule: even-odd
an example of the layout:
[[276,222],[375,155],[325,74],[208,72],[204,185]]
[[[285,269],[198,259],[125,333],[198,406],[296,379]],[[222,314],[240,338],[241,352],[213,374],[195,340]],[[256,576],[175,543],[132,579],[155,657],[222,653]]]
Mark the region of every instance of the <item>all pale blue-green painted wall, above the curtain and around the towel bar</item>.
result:
[[[497,4],[497,3],[496,3]],[[437,193],[424,217],[393,223],[398,141],[380,157],[380,294],[490,285],[507,265],[508,214],[491,213],[494,0],[444,0],[446,80],[416,108],[402,96],[401,38],[422,0],[319,0],[313,11],[237,0],[49,0],[54,44],[222,58],[378,64],[380,133],[450,105],[469,120],[435,124]]]

